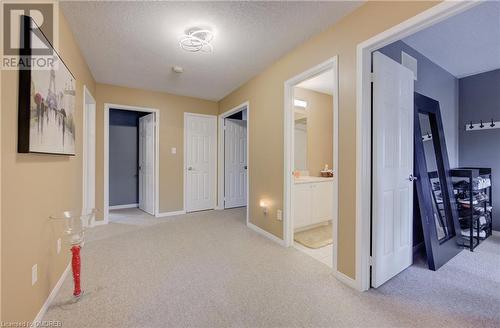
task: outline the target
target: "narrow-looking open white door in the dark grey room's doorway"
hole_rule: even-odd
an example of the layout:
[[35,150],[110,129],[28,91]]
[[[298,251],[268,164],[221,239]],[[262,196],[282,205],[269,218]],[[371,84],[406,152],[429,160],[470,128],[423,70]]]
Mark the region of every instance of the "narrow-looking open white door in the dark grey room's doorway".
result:
[[155,114],[139,118],[139,208],[155,214]]

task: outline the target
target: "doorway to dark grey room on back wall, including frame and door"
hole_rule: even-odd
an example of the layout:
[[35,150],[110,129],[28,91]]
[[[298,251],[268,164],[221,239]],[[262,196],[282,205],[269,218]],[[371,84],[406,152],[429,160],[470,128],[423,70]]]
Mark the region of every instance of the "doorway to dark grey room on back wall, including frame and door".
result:
[[[158,216],[158,151],[157,109],[104,105],[106,223],[109,222],[110,210],[132,211],[134,216],[141,213],[147,217]],[[123,216],[130,213],[114,214]]]

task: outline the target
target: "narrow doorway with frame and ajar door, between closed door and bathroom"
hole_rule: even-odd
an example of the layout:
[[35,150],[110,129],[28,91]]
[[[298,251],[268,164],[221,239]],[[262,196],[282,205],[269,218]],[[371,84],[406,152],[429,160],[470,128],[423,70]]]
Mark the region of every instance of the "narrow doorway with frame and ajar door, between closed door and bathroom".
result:
[[240,104],[219,115],[218,209],[247,207],[250,105]]

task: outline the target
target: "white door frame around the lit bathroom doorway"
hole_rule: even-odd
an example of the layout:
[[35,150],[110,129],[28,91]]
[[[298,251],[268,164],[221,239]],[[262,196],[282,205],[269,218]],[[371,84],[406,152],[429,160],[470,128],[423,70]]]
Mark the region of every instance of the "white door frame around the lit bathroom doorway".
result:
[[325,71],[333,70],[333,170],[336,178],[333,180],[333,208],[334,217],[333,226],[333,271],[336,276],[343,279],[343,274],[337,271],[338,257],[338,177],[339,177],[339,74],[338,74],[338,56],[316,65],[294,77],[285,81],[284,92],[284,200],[283,200],[283,236],[286,247],[293,245],[293,174],[292,167],[294,162],[294,111],[293,111],[293,88],[300,82],[321,74]]

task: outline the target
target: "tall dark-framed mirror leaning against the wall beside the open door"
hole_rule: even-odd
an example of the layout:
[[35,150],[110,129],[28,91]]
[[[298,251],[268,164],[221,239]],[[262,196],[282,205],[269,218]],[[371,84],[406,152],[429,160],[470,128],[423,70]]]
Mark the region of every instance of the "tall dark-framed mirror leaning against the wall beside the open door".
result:
[[[415,175],[418,205],[429,269],[437,270],[461,248],[460,224],[450,175],[450,165],[439,102],[415,93]],[[422,140],[422,131],[432,139]]]

